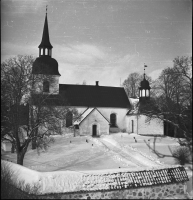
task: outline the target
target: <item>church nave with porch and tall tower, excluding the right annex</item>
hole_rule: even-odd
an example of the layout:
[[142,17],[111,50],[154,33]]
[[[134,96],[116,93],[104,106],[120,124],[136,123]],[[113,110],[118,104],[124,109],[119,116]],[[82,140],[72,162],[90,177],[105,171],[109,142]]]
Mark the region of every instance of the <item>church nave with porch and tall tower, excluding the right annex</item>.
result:
[[[59,83],[61,75],[58,71],[58,62],[52,58],[53,46],[49,38],[47,13],[42,41],[38,48],[39,57],[33,63],[32,73],[34,76],[44,75],[45,80],[35,83],[34,92],[38,94],[41,85],[49,98],[57,99],[57,95],[62,96],[67,105],[76,108],[81,113],[81,120],[68,120],[68,126],[75,126],[80,135],[93,136],[126,129],[126,114],[131,105],[124,88],[100,86],[98,81],[95,85]],[[50,83],[47,77],[51,77],[53,81]],[[62,106],[59,101],[55,102],[54,106]]]

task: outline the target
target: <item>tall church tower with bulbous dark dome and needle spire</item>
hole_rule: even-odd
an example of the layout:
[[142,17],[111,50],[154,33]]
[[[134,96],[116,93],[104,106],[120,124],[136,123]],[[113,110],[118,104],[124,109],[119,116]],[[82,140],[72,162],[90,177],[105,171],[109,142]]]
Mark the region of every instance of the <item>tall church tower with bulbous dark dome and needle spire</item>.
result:
[[39,57],[33,63],[32,74],[35,79],[34,93],[59,94],[58,62],[52,58],[52,48],[50,43],[47,6],[46,16],[42,34],[42,41],[39,48]]

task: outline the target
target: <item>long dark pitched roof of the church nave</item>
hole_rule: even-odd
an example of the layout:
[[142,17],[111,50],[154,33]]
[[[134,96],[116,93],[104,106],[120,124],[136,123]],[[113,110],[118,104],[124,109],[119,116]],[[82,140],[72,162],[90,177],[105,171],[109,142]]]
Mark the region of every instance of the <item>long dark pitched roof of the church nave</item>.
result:
[[[34,100],[37,99],[35,96],[37,95],[34,95]],[[93,85],[60,84],[59,95],[49,95],[44,102],[56,106],[130,107],[124,88]]]

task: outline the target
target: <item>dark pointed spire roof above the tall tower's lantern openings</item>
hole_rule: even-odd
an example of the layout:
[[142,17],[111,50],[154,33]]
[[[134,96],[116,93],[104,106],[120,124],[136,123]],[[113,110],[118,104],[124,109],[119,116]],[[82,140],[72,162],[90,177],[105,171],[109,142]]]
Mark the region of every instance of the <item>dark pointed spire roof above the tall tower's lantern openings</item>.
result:
[[44,30],[43,30],[43,35],[42,35],[42,41],[40,45],[38,46],[39,48],[45,47],[45,48],[53,48],[53,46],[50,43],[50,38],[49,38],[49,30],[48,30],[48,20],[47,20],[47,13],[46,13],[46,18],[44,22]]

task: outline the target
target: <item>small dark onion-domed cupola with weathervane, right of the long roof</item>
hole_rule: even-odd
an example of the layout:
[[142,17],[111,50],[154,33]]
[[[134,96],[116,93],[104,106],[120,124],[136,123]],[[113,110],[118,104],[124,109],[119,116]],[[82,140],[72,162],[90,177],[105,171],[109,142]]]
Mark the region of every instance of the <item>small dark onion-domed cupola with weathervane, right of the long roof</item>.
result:
[[149,86],[149,81],[147,81],[145,78],[145,67],[147,67],[147,65],[144,65],[144,78],[141,81],[140,87],[139,87],[139,101],[140,102],[142,101],[144,102],[150,99],[151,87]]

